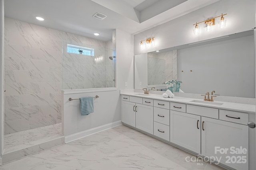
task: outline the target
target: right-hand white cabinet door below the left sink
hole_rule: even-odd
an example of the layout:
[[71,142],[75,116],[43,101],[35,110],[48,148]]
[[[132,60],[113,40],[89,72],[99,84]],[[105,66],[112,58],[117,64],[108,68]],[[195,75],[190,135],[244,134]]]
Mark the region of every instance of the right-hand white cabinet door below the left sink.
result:
[[153,106],[136,104],[136,128],[153,134]]

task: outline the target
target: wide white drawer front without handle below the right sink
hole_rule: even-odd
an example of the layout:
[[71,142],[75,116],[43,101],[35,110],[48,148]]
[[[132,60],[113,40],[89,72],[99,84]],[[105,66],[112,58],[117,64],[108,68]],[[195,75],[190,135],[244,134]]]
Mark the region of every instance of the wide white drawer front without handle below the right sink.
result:
[[210,107],[194,106],[187,104],[187,113],[200,115],[204,117],[212,117],[214,119],[219,118],[219,110]]

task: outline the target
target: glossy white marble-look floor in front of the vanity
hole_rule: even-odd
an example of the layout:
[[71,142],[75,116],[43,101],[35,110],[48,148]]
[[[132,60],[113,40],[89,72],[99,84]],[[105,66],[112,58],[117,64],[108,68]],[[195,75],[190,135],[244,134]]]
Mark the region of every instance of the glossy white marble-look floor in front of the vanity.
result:
[[0,170],[223,170],[120,125],[0,166]]

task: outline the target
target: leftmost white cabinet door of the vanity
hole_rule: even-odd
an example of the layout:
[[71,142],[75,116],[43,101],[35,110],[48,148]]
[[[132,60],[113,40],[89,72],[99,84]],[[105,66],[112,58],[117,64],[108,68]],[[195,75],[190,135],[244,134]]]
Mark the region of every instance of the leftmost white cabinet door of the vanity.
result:
[[135,127],[135,103],[122,101],[122,122]]

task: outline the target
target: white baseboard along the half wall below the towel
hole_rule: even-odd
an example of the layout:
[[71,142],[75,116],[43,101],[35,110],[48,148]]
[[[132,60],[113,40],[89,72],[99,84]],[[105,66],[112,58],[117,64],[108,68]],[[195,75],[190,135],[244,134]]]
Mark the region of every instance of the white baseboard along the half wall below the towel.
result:
[[89,129],[89,130],[86,130],[86,131],[82,131],[82,132],[78,132],[78,133],[75,133],[75,134],[72,134],[72,135],[68,135],[68,136],[65,136],[65,143],[70,143],[72,141],[76,141],[77,139],[81,139],[83,137],[87,137],[89,135],[93,135],[95,133],[105,131],[107,129],[110,129],[110,128],[113,128],[113,127],[116,127],[116,126],[119,126],[119,125],[122,125],[122,124],[123,124],[122,121],[115,121],[113,123],[108,123],[106,125],[95,127],[95,128],[92,128],[92,129]]

